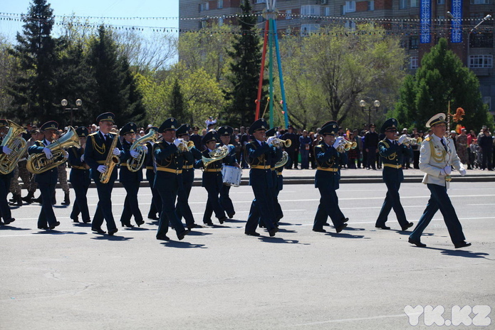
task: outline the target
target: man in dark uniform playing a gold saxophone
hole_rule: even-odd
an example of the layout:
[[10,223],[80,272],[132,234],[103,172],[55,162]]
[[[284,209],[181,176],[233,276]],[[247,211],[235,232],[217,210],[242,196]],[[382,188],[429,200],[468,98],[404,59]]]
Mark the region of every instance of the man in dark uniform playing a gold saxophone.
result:
[[[112,212],[112,190],[113,183],[117,179],[117,169],[113,169],[110,174],[110,180],[108,183],[102,183],[100,181],[100,174],[107,171],[105,160],[108,154],[120,156],[122,154],[122,144],[118,139],[117,134],[110,134],[110,129],[115,122],[115,115],[112,112],[105,112],[96,118],[100,126],[100,130],[93,134],[88,135],[86,141],[86,148],[84,150],[84,159],[86,164],[90,166],[90,176],[96,183],[96,190],[98,191],[98,206],[96,207],[95,216],[93,217],[93,224],[91,230],[99,234],[104,234],[105,231],[101,229],[103,220],[107,222],[108,235],[113,235],[118,232],[115,220]],[[113,140],[117,139],[116,147],[110,150],[113,144]]]

